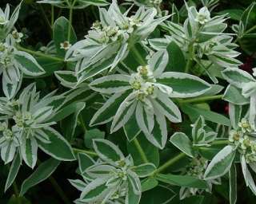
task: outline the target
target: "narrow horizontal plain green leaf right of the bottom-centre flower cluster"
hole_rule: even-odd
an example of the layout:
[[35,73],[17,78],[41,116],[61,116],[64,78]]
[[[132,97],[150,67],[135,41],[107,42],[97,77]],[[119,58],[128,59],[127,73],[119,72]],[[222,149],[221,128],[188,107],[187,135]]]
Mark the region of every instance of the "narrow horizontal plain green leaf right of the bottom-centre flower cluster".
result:
[[190,175],[162,175],[156,176],[159,182],[165,182],[174,186],[183,186],[189,188],[207,189],[207,182]]

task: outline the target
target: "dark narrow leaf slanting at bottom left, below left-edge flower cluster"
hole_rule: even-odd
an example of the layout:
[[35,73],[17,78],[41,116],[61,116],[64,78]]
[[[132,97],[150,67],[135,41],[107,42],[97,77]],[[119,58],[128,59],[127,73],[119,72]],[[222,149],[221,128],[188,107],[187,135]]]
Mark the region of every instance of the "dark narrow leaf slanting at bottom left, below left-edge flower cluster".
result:
[[31,187],[36,186],[38,183],[49,178],[50,175],[52,175],[57,169],[60,163],[61,162],[56,159],[48,159],[45,162],[41,163],[36,171],[34,171],[33,174],[30,175],[30,177],[22,183],[20,194],[26,194],[26,191],[29,190]]

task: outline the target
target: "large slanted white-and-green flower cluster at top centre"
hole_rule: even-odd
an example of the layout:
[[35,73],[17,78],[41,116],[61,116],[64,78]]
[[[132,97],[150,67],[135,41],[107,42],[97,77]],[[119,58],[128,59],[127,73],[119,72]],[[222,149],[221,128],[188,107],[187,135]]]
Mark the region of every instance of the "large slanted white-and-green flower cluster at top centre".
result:
[[100,8],[100,22],[94,22],[85,40],[68,49],[66,61],[77,62],[74,75],[78,84],[106,69],[114,69],[129,53],[129,47],[148,37],[169,18],[155,18],[157,11],[143,6],[130,17],[128,13],[129,10],[122,14],[115,0],[108,10]]

